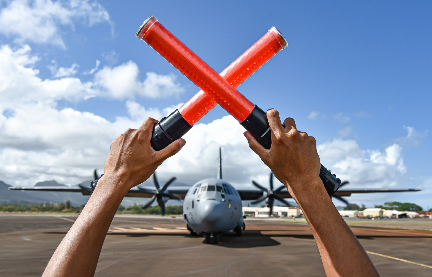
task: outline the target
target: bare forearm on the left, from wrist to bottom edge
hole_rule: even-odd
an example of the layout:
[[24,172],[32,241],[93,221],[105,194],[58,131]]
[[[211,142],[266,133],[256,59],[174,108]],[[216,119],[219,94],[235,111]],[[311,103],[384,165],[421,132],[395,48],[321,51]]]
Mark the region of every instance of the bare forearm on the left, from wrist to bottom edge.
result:
[[83,211],[54,252],[43,277],[85,277],[95,273],[106,233],[125,194],[110,184],[114,180],[107,179],[99,180]]

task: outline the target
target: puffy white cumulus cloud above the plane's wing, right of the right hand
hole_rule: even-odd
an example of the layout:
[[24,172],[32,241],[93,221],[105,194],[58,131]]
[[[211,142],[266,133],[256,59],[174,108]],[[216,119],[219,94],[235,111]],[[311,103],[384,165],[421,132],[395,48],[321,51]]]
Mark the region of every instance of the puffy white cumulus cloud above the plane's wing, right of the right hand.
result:
[[354,140],[334,139],[318,145],[317,149],[323,164],[358,187],[396,186],[407,171],[398,144],[384,151],[362,150]]

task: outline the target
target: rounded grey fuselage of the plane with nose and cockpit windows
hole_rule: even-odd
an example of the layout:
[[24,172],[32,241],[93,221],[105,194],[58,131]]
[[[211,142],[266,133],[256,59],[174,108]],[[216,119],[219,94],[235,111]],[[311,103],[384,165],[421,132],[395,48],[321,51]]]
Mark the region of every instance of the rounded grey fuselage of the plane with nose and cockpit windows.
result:
[[241,197],[221,179],[208,178],[194,184],[184,197],[183,216],[197,233],[226,233],[243,226]]

